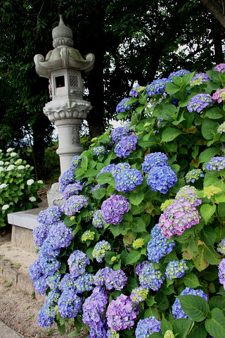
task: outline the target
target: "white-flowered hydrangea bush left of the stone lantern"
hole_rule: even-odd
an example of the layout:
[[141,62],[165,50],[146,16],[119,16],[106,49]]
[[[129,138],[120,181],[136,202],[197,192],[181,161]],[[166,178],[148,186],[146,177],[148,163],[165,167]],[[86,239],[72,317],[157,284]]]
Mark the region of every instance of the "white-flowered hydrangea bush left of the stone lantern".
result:
[[37,196],[42,181],[34,181],[31,167],[25,160],[8,148],[0,149],[0,227],[7,224],[8,213],[37,208],[41,201]]

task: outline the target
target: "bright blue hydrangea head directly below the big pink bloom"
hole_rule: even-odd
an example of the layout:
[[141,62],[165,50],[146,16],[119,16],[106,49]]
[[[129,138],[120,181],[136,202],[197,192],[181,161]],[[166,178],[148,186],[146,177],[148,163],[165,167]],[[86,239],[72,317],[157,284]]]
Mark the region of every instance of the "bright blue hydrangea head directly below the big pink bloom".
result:
[[149,261],[159,263],[160,259],[168,255],[172,249],[174,249],[175,245],[175,242],[167,243],[167,239],[162,235],[158,227],[158,234],[148,242],[147,252]]

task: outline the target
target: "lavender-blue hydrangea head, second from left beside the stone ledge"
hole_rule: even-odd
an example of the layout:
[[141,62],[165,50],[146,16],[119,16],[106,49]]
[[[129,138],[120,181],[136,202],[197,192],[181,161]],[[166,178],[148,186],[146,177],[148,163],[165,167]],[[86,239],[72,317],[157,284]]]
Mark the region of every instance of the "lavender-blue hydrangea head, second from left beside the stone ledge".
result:
[[57,222],[49,231],[48,241],[53,249],[68,248],[74,236],[72,229],[63,222]]

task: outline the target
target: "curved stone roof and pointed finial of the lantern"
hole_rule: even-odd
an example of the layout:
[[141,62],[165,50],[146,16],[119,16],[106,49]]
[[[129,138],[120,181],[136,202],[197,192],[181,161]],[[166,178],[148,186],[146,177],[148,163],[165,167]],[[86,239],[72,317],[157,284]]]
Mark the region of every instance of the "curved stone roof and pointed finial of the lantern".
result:
[[54,49],[49,51],[46,58],[41,54],[34,56],[37,74],[50,79],[54,70],[63,68],[81,70],[86,75],[91,72],[94,68],[94,54],[87,54],[84,59],[77,49],[72,48],[72,30],[63,23],[63,15],[60,15],[59,25],[53,28],[52,37]]

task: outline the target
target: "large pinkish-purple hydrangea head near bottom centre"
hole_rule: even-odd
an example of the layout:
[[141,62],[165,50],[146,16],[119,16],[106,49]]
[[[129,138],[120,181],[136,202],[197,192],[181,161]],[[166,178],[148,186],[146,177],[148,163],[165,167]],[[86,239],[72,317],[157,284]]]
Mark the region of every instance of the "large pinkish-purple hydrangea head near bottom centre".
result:
[[110,329],[115,331],[130,329],[134,326],[134,319],[139,314],[138,306],[134,306],[128,296],[117,297],[111,301],[106,311],[106,318]]

